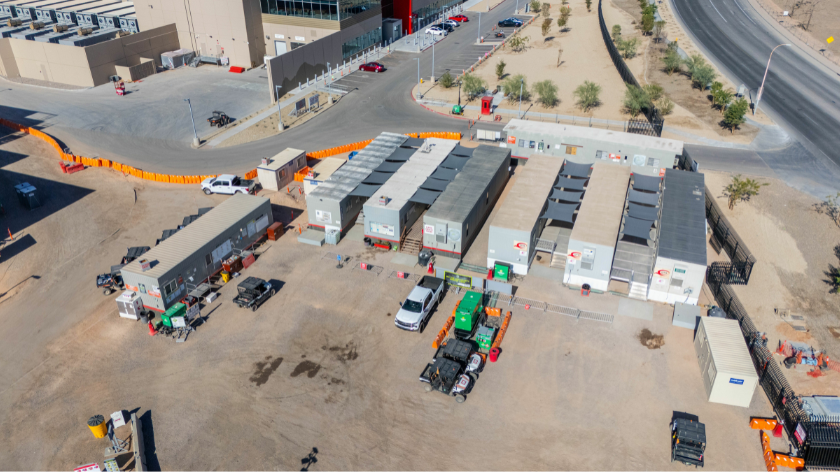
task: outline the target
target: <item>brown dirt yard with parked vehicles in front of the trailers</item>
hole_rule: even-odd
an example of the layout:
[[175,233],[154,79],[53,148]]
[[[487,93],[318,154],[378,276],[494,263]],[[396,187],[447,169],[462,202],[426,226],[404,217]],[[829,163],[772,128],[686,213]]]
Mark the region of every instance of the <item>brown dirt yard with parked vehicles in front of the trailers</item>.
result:
[[[426,332],[400,331],[393,313],[411,282],[388,277],[400,270],[392,252],[349,239],[319,249],[287,232],[262,246],[244,274],[282,285],[260,310],[235,309],[230,284],[202,308],[206,323],[187,342],[150,337],[117,316],[94,276],[126,246],[151,244],[225,197],[105,169],[60,174],[50,150],[30,137],[0,150],[4,177],[39,174],[89,190],[17,231],[37,235],[34,248],[0,252],[0,270],[12,277],[4,290],[39,276],[0,298],[4,468],[101,462],[106,442],[85,421],[119,409],[142,419],[152,470],[297,469],[313,455],[309,470],[682,470],[669,461],[675,412],[706,424],[707,467],[762,467],[748,418],[771,413],[763,392],[747,409],[708,403],[691,330],[672,327],[665,305],[653,307],[650,321],[615,313],[612,324],[516,307],[499,362],[458,405],[425,393],[417,377],[460,296],[447,295]],[[288,197],[272,202],[289,229],[306,221],[298,211],[291,219]],[[14,203],[6,205],[10,222],[21,218]],[[383,273],[336,269],[327,251]],[[519,290],[567,305],[617,303],[532,277]],[[453,450],[454,463],[441,454]]]

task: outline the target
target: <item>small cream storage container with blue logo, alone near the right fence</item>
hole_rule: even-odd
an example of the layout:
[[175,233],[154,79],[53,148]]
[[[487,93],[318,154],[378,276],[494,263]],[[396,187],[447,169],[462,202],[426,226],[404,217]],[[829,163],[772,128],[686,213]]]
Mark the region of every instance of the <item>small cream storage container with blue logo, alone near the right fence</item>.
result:
[[700,318],[694,352],[709,401],[748,408],[758,385],[758,374],[738,321]]

